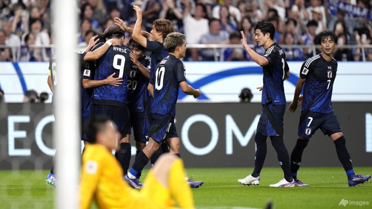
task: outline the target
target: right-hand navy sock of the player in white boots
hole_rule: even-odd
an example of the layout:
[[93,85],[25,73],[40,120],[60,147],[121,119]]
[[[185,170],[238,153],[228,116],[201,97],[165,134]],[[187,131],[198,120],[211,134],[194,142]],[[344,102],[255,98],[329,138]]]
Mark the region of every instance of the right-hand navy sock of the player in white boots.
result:
[[275,148],[276,154],[278,155],[278,160],[280,167],[282,167],[284,178],[287,182],[292,182],[291,166],[289,165],[289,154],[285,147],[282,136],[270,136],[271,144]]

